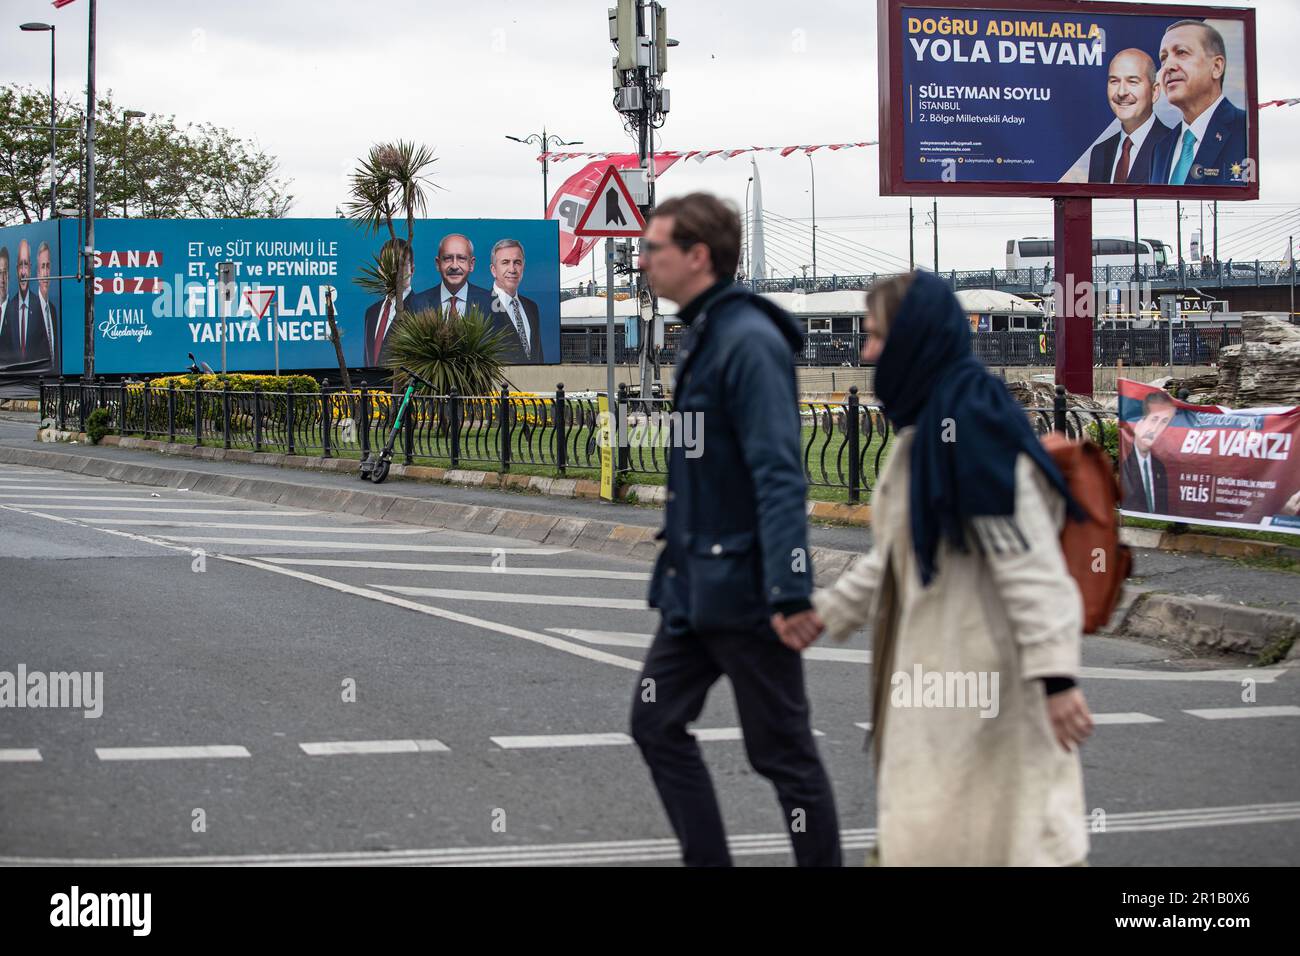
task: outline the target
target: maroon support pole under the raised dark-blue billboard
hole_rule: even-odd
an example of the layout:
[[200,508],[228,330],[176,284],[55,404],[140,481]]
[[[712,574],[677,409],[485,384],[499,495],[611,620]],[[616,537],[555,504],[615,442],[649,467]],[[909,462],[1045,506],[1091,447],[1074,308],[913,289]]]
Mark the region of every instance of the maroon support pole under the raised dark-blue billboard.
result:
[[[1092,395],[1092,200],[1053,199],[1056,384]],[[1080,277],[1083,277],[1080,280]],[[1084,290],[1087,297],[1084,298]]]

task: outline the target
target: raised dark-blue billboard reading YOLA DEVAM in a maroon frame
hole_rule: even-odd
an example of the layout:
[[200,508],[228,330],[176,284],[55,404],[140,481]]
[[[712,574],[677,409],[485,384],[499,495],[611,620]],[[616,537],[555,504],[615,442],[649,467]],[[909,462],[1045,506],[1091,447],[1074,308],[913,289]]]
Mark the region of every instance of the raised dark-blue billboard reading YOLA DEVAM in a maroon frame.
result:
[[887,5],[887,193],[907,183],[966,195],[1257,191],[1248,10]]

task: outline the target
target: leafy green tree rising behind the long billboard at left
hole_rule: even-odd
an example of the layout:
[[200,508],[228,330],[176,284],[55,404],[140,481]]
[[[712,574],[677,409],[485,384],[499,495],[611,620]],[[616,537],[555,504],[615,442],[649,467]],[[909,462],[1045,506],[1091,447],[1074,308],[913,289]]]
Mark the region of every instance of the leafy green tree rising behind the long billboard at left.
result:
[[[84,111],[58,98],[58,206],[84,208]],[[39,129],[23,129],[39,127]],[[95,117],[95,215],[150,219],[278,219],[294,202],[278,160],[213,124],[174,116],[125,120],[112,91]],[[0,222],[49,216],[49,94],[0,87]]]

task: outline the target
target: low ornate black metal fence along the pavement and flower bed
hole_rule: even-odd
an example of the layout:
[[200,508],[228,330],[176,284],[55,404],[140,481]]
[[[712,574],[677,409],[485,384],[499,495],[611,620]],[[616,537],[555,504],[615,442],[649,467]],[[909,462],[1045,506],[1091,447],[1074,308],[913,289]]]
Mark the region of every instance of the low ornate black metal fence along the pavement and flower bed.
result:
[[[84,385],[40,384],[42,419],[58,429],[86,429],[96,408],[108,412],[118,434],[166,442],[322,458],[361,458],[384,447],[400,394],[378,389],[343,392],[251,392],[185,389],[147,382]],[[684,423],[668,398],[636,398],[620,385],[615,401],[616,468],[624,480],[663,476],[670,449],[682,438]],[[1097,423],[1114,412],[1027,408],[1039,433],[1053,428],[1101,438]],[[879,406],[858,398],[800,402],[803,471],[815,488],[842,489],[850,503],[870,499],[876,476],[893,444],[893,431]],[[1093,429],[1093,431],[1089,431]],[[494,395],[415,395],[395,436],[394,460],[442,467],[512,466],[554,470],[559,475],[599,473],[604,441],[598,399],[568,395],[528,397],[502,389]],[[688,431],[686,434],[692,432]]]

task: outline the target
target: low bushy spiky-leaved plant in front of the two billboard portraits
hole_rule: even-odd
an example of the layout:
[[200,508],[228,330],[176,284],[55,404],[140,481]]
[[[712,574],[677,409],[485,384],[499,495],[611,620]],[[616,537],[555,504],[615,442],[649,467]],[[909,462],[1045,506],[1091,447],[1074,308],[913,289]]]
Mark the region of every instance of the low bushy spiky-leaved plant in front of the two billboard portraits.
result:
[[463,315],[445,315],[441,308],[402,312],[385,346],[394,385],[404,386],[399,367],[406,365],[439,395],[451,389],[462,395],[493,394],[502,381],[504,350],[506,333],[493,332],[477,306]]

